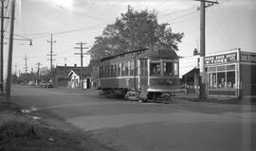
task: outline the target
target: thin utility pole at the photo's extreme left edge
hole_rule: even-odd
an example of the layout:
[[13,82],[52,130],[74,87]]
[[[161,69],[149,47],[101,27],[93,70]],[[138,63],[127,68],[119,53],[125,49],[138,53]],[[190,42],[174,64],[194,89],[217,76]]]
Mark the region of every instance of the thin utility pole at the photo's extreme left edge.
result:
[[5,2],[1,0],[0,93],[4,92],[4,9]]

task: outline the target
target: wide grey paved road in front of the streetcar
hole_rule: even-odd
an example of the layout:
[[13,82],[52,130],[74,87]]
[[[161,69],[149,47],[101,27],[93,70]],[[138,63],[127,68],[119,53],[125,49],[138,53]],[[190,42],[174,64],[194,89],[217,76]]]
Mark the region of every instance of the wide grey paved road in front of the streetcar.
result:
[[13,86],[15,103],[54,112],[119,151],[252,151],[255,107],[137,103],[97,91]]

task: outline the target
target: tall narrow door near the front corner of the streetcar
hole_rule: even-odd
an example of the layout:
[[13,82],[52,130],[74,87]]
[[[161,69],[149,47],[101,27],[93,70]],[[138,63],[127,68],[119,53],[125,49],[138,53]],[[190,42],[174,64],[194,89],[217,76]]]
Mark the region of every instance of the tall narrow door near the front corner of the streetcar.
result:
[[140,97],[147,98],[148,93],[148,59],[139,59]]

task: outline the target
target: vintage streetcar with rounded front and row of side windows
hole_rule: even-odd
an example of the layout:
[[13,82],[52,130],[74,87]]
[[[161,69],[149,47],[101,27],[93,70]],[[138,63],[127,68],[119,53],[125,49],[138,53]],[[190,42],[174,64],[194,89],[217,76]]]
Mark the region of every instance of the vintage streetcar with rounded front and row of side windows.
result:
[[99,88],[107,97],[170,98],[178,91],[178,57],[166,48],[139,49],[101,59]]

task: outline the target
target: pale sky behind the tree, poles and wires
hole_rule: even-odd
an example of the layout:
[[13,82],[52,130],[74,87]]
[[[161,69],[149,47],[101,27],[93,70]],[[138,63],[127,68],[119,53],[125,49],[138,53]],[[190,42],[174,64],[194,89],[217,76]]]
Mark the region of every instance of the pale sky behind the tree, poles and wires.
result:
[[[207,8],[206,54],[240,47],[256,52],[255,0],[218,0],[219,5]],[[7,4],[6,4],[7,5]],[[53,33],[54,65],[80,66],[77,42],[86,42],[90,47],[104,27],[113,24],[121,12],[130,5],[137,10],[148,8],[158,12],[158,23],[169,23],[174,32],[184,32],[179,43],[179,56],[192,56],[192,50],[199,45],[200,2],[194,0],[17,0],[15,34],[33,40],[15,41],[13,71],[25,72],[27,54],[28,71],[35,70],[36,63],[49,67],[50,33]],[[8,15],[7,11],[7,14]],[[9,31],[9,27],[7,28]],[[9,37],[8,33],[5,35]],[[15,36],[15,38],[19,38]],[[8,40],[6,40],[8,42]],[[7,54],[7,45],[5,54]],[[84,56],[87,65],[89,57]],[[7,55],[5,57],[7,62]],[[5,65],[6,69],[7,66]],[[5,69],[5,72],[6,72]]]

